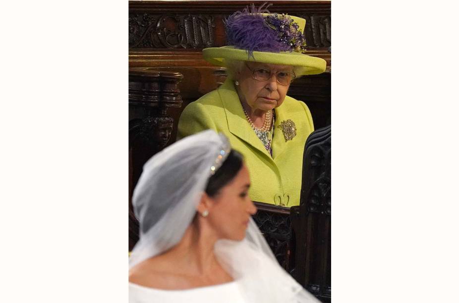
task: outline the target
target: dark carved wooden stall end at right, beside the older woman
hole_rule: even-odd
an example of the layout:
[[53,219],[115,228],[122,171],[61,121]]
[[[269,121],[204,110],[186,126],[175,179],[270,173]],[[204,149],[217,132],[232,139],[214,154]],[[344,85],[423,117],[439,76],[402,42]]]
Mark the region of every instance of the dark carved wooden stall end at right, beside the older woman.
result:
[[331,139],[331,126],[308,137],[300,205],[290,209],[291,274],[322,302],[331,301]]

